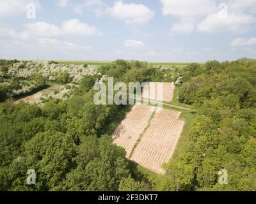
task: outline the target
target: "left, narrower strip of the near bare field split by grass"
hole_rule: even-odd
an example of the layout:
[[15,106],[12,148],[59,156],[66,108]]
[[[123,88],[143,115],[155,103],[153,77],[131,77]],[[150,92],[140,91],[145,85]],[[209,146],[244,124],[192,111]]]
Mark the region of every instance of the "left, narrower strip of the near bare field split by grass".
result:
[[145,105],[133,106],[131,112],[127,114],[125,119],[113,133],[114,143],[124,147],[127,157],[131,154],[132,148],[147,127],[150,116],[154,107]]

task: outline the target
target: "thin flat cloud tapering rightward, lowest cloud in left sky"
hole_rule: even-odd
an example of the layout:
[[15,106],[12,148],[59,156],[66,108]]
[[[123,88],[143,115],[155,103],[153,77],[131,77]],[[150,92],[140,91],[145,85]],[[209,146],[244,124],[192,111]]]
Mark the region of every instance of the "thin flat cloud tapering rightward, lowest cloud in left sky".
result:
[[40,38],[38,44],[42,47],[54,47],[63,49],[84,49],[89,50],[90,47],[76,45],[67,41],[58,40],[55,38]]

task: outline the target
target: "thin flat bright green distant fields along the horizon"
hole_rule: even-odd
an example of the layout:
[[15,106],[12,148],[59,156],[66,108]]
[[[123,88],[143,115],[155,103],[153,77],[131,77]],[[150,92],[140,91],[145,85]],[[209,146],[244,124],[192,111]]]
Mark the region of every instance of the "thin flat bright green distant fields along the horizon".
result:
[[[60,64],[88,64],[88,65],[105,65],[109,64],[112,61],[57,61]],[[177,68],[182,68],[184,66],[187,66],[190,64],[190,62],[148,62],[148,64],[151,64],[152,66],[177,66]],[[204,63],[199,63],[204,64]]]

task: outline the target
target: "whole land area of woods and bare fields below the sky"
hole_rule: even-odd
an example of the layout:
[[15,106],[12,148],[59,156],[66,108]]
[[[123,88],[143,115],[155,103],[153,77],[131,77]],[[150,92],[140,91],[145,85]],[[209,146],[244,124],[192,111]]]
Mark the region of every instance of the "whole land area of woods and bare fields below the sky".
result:
[[[255,190],[255,60],[182,69],[0,62],[1,190]],[[163,109],[95,105],[102,76],[163,82]],[[40,175],[35,187],[25,182],[28,168]],[[218,184],[220,169],[228,185]]]

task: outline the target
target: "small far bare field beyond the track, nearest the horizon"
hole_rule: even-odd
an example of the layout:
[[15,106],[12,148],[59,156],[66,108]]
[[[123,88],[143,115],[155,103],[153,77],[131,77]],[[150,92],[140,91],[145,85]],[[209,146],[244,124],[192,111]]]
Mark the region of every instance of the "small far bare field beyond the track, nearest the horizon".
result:
[[[163,84],[163,89],[160,89],[161,84]],[[161,101],[163,95],[163,101],[170,102],[173,99],[174,89],[173,82],[148,82],[148,85],[143,89],[142,97]]]

